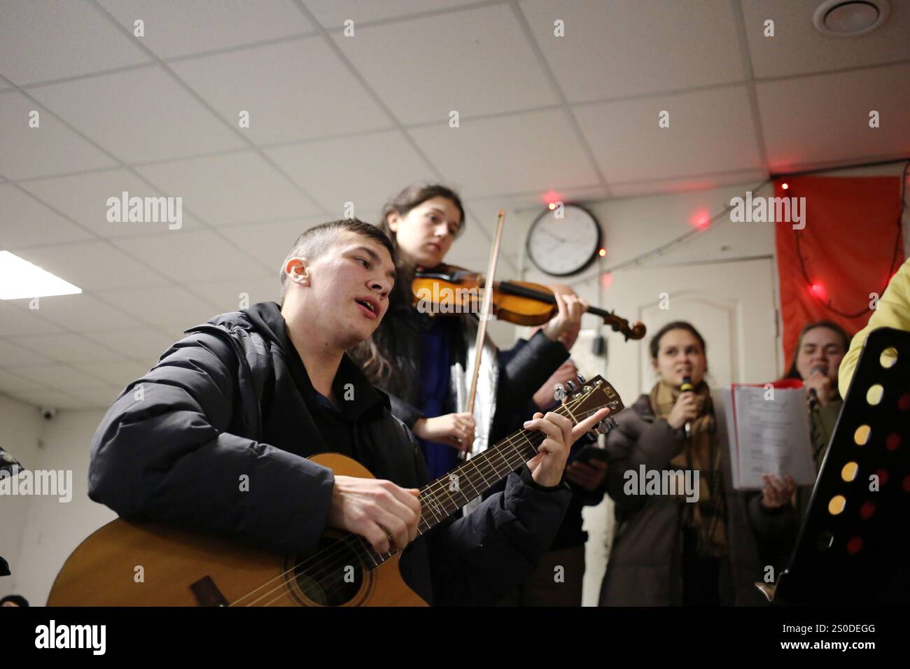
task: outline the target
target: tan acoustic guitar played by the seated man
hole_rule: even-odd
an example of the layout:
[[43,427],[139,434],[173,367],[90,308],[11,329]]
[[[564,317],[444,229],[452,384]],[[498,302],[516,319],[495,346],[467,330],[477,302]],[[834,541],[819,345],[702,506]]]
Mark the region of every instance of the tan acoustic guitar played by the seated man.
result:
[[[579,378],[554,410],[574,424],[607,407],[591,432],[608,431],[622,411],[601,377]],[[539,431],[520,430],[420,491],[418,537],[537,454]],[[357,461],[321,453],[312,461],[337,475],[373,478]],[[376,552],[351,532],[325,532],[316,552],[280,555],[224,536],[117,519],[69,556],[48,606],[426,606],[402,580],[400,552]]]

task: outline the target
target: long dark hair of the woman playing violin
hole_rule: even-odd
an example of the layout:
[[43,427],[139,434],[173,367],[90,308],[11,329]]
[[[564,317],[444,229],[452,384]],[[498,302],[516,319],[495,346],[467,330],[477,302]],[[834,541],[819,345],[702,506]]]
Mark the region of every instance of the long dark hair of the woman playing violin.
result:
[[377,227],[386,233],[395,248],[398,278],[395,280],[395,288],[389,295],[389,311],[379,328],[369,340],[349,350],[349,354],[359,363],[370,383],[409,403],[413,403],[416,393],[420,392],[420,384],[415,383],[420,360],[415,360],[414,355],[415,350],[420,350],[420,333],[409,324],[409,317],[414,309],[411,305],[410,284],[414,279],[415,268],[413,263],[399,252],[395,232],[389,228],[389,215],[397,213],[399,217],[404,218],[411,209],[420,207],[432,198],[450,200],[459,210],[461,217],[459,234],[464,230],[465,217],[461,198],[454,190],[440,184],[413,184],[386,203]]

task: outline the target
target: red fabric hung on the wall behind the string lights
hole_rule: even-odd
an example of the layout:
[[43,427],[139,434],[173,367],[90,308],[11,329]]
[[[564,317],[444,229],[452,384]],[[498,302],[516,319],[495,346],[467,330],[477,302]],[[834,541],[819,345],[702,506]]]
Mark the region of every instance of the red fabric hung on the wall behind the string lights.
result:
[[[782,184],[790,188],[784,190]],[[806,323],[834,320],[853,335],[869,319],[869,293],[881,296],[904,260],[900,177],[794,177],[774,182],[777,198],[805,198],[805,228],[774,223],[784,359],[789,366]],[[803,258],[804,278],[800,256]],[[813,289],[811,285],[814,285]],[[844,314],[863,313],[845,318]],[[785,370],[782,370],[785,371]]]

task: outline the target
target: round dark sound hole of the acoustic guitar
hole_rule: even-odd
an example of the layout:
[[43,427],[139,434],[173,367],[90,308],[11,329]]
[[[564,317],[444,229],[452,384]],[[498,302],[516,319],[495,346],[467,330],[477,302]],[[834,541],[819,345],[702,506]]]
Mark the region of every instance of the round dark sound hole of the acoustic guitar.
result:
[[300,592],[319,606],[349,603],[363,585],[363,565],[341,537],[323,537],[315,554],[295,562],[294,577]]

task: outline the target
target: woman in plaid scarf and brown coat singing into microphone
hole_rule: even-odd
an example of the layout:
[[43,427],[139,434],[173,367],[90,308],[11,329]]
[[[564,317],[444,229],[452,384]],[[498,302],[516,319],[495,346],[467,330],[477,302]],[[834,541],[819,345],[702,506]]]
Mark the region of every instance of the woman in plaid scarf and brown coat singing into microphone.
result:
[[[619,425],[607,435],[616,532],[601,605],[762,603],[753,586],[762,571],[745,500],[733,491],[729,452],[715,437],[704,339],[690,323],[669,323],[653,336],[651,358],[659,380],[617,415]],[[693,390],[682,391],[687,377]],[[658,476],[697,471],[697,494],[642,494],[629,485],[642,467]]]

